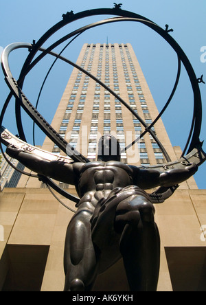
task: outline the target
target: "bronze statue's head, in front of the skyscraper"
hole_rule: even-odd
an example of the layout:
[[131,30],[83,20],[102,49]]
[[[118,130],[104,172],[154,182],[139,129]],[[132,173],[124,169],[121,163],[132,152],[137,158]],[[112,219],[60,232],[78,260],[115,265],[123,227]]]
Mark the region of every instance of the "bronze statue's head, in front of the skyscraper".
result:
[[119,142],[113,135],[103,135],[99,141],[98,160],[120,161],[120,146]]

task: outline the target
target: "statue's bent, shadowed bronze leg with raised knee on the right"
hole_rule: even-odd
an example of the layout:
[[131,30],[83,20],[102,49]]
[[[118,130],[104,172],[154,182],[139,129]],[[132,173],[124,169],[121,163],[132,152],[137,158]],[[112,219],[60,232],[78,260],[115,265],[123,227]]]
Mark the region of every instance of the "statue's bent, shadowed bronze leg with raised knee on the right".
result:
[[142,195],[128,197],[117,207],[115,227],[131,291],[157,291],[160,238],[155,208]]

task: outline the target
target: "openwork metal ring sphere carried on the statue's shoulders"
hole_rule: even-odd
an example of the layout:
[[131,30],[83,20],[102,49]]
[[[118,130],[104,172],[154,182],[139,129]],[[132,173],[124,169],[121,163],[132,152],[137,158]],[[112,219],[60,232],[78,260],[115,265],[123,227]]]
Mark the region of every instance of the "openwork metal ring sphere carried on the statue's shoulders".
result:
[[[144,137],[146,133],[150,133],[150,135],[155,139],[157,144],[159,145],[159,148],[161,149],[166,163],[164,163],[161,166],[149,166],[150,168],[155,168],[156,170],[161,170],[163,171],[168,170],[169,168],[183,168],[185,165],[188,163],[196,163],[198,166],[205,161],[205,153],[203,152],[201,146],[202,143],[200,142],[199,135],[201,132],[201,121],[202,121],[202,103],[201,103],[201,92],[199,89],[199,84],[203,82],[203,78],[196,78],[196,75],[194,73],[194,69],[192,68],[192,65],[190,64],[190,61],[188,60],[187,56],[181,49],[181,47],[176,43],[174,38],[170,36],[170,32],[173,32],[172,29],[169,29],[168,25],[165,25],[165,29],[159,27],[156,23],[150,21],[149,19],[146,19],[144,16],[140,16],[139,14],[135,14],[134,12],[128,12],[126,10],[121,9],[121,4],[117,5],[115,3],[114,8],[102,8],[102,9],[95,9],[95,10],[86,10],[84,12],[79,12],[77,14],[74,14],[73,11],[67,12],[67,14],[62,15],[62,20],[53,27],[51,27],[43,36],[37,41],[33,41],[33,43],[12,43],[11,45],[8,45],[8,47],[5,47],[3,50],[3,54],[1,56],[1,65],[3,68],[3,73],[5,75],[5,82],[8,84],[8,87],[10,89],[10,93],[8,95],[8,98],[5,100],[5,103],[3,105],[3,109],[1,111],[1,116],[0,116],[0,126],[1,126],[1,142],[5,144],[5,146],[8,146],[10,144],[14,144],[16,146],[19,146],[19,148],[26,150],[27,152],[34,153],[37,155],[43,155],[45,154],[47,156],[47,159],[49,160],[56,160],[59,158],[62,158],[61,160],[65,162],[71,162],[71,159],[76,162],[89,162],[89,160],[81,155],[75,148],[73,148],[65,139],[63,139],[60,134],[58,134],[54,128],[45,120],[45,118],[37,111],[37,106],[38,106],[38,100],[41,95],[41,91],[38,95],[38,100],[36,102],[36,106],[34,106],[30,100],[27,99],[26,95],[23,93],[23,84],[25,81],[26,76],[30,73],[30,71],[34,68],[34,66],[45,56],[54,56],[55,60],[54,63],[56,63],[57,59],[60,59],[64,61],[65,63],[72,65],[73,67],[76,67],[80,71],[82,71],[85,75],[89,76],[95,82],[98,82],[104,89],[106,89],[111,95],[115,97],[115,99],[119,100],[141,123],[141,125],[144,127],[143,133],[138,137]],[[53,43],[52,45],[49,45],[49,47],[44,48],[43,44],[47,42],[47,40],[53,36],[58,30],[62,29],[62,27],[65,27],[65,25],[69,25],[70,23],[73,23],[74,21],[77,21],[79,19],[84,19],[89,16],[98,16],[98,15],[112,15],[113,17],[109,19],[104,19],[102,21],[98,21],[95,23],[91,23],[88,25],[85,25],[84,27],[80,27],[77,30],[70,32],[66,36],[63,36],[60,38],[58,41]],[[150,27],[152,30],[157,32],[161,37],[165,39],[169,43],[169,45],[174,49],[177,55],[177,63],[178,63],[178,69],[177,69],[177,75],[176,75],[176,81],[174,83],[174,88],[172,90],[172,93],[170,95],[170,98],[168,101],[165,103],[165,106],[163,109],[160,111],[159,115],[156,117],[156,119],[152,122],[152,124],[146,124],[144,120],[139,117],[139,115],[133,111],[133,109],[130,108],[130,106],[121,98],[119,95],[117,95],[113,90],[111,90],[109,87],[106,86],[103,82],[101,82],[98,78],[95,78],[92,74],[90,74],[88,71],[82,69],[82,67],[76,65],[75,63],[72,63],[71,60],[61,56],[62,52],[65,50],[66,47],[68,47],[80,34],[83,32],[86,32],[87,30],[90,30],[93,27],[98,27],[100,25],[105,25],[109,23],[118,23],[118,22],[126,22],[126,21],[133,21],[137,23],[142,23],[146,25],[147,27]],[[60,54],[56,54],[53,52],[53,49],[57,47],[58,45],[64,43],[65,41],[69,41],[62,49],[62,52]],[[8,62],[8,57],[11,52],[13,52],[15,49],[19,48],[27,48],[29,49],[30,53],[25,59],[25,63],[23,64],[23,67],[21,69],[21,73],[19,75],[19,79],[16,80],[12,76],[12,72],[10,70],[10,65]],[[36,56],[36,54],[38,56]],[[34,59],[34,57],[36,58]],[[54,66],[54,63],[52,67]],[[157,135],[152,131],[152,127],[157,123],[161,115],[165,112],[165,110],[168,108],[168,105],[172,101],[172,98],[174,96],[174,93],[176,91],[176,88],[179,84],[179,79],[181,75],[181,65],[183,65],[187,71],[187,74],[190,78],[190,82],[192,85],[192,91],[194,93],[194,109],[193,109],[193,117],[192,117],[192,123],[191,123],[191,128],[189,131],[189,135],[187,137],[187,142],[185,144],[185,148],[183,150],[183,154],[181,156],[181,159],[172,162],[170,159],[170,156],[166,152],[165,148],[157,138]],[[49,69],[51,71],[52,67]],[[48,74],[49,74],[48,71]],[[47,74],[47,76],[48,76]],[[47,78],[46,76],[46,78]],[[45,80],[46,80],[45,78]],[[43,85],[45,84],[45,81],[43,82]],[[43,89],[43,85],[41,87],[41,90]],[[2,126],[3,124],[3,117],[5,115],[5,112],[8,108],[8,104],[12,98],[12,95],[16,98],[15,102],[15,113],[16,113],[16,126],[18,129],[19,137],[15,137],[8,131],[6,128]],[[31,146],[27,144],[27,140],[25,138],[25,133],[23,130],[23,124],[21,120],[21,110],[24,110],[27,115],[29,115],[32,120],[34,121],[34,124],[36,124],[49,139],[51,139],[54,144],[56,144],[64,153],[66,153],[69,157],[60,157],[58,155],[55,155],[53,153],[48,153],[45,152],[41,149],[36,148],[35,146]],[[33,135],[34,136],[34,135]],[[127,150],[130,146],[133,146],[135,142],[137,142],[136,139],[133,143],[131,143],[129,146],[124,148],[124,151]],[[34,144],[35,145],[35,144]],[[10,163],[10,161],[6,158],[5,154],[3,153],[3,148],[1,146],[1,152],[5,159]],[[186,154],[186,155],[185,155]],[[184,157],[185,156],[185,157]],[[70,159],[71,158],[71,159]],[[12,163],[10,163],[10,166],[15,168]],[[69,192],[66,192],[65,190],[62,190],[61,188],[54,183],[49,177],[39,177],[36,174],[28,174],[27,172],[21,171],[17,168],[15,168],[19,172],[23,174],[27,174],[30,177],[36,177],[38,179],[42,179],[45,183],[47,183],[48,187],[52,187],[54,190],[56,190],[58,193],[62,194],[65,196],[67,199],[70,199],[71,201],[78,203],[79,199],[76,196],[73,196],[72,194],[69,194]],[[171,196],[176,190],[178,185],[174,185],[173,187],[170,188],[159,188],[159,190],[153,192],[150,194],[151,201],[153,203],[161,203],[165,199],[167,199],[169,196]],[[50,188],[49,188],[50,189]],[[51,189],[50,189],[51,190]],[[53,193],[54,194],[54,193]],[[57,198],[57,197],[56,197]],[[69,207],[68,207],[69,208]],[[69,208],[69,210],[72,210]],[[73,210],[72,210],[73,211]],[[75,212],[75,211],[73,211]]]

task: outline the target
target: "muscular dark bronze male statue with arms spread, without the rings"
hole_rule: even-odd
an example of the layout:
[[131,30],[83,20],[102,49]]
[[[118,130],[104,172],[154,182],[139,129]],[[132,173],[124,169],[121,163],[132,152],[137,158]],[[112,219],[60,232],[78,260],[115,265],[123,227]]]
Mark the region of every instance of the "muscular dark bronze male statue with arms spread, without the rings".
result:
[[65,291],[91,291],[95,279],[123,258],[130,291],[156,291],[160,239],[155,208],[145,192],[190,178],[195,164],[159,172],[120,162],[119,142],[100,139],[98,161],[45,161],[8,146],[18,159],[40,175],[76,186],[80,203],[65,240]]

